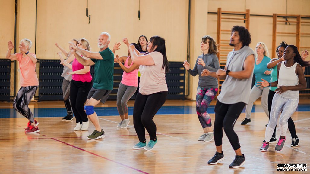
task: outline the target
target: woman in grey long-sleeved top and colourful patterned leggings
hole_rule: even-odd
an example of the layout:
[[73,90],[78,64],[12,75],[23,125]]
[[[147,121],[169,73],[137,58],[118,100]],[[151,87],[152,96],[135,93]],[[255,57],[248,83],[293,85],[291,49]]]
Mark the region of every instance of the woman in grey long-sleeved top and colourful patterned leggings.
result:
[[[184,61],[183,66],[192,76],[199,75],[197,95],[196,95],[196,111],[198,119],[202,126],[203,131],[198,141],[210,142],[213,139],[213,131],[211,129],[211,118],[207,112],[211,101],[214,99],[218,91],[218,80],[211,76],[201,76],[203,69],[209,71],[217,71],[220,69],[219,59],[216,54],[218,53],[217,44],[211,36],[203,36],[201,38],[200,49],[202,54],[198,56],[196,64],[190,69],[190,64]],[[211,131],[211,132],[208,132]]]

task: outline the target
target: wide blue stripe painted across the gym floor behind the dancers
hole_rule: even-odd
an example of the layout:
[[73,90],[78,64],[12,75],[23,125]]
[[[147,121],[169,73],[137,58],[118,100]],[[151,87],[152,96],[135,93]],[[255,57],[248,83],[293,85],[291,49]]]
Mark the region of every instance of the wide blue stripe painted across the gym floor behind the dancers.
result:
[[[116,107],[98,107],[94,109],[98,116],[116,116],[119,115]],[[34,117],[64,117],[66,116],[66,108],[34,108],[31,109]],[[298,105],[296,111],[310,111],[310,104]],[[214,113],[214,106],[209,106],[208,113]],[[245,112],[245,108],[242,112]],[[253,106],[252,112],[264,112],[263,108]],[[133,107],[128,108],[128,114],[132,115]],[[157,115],[171,114],[196,114],[196,106],[163,106],[157,112]],[[0,109],[0,118],[17,118],[23,117],[15,109]]]

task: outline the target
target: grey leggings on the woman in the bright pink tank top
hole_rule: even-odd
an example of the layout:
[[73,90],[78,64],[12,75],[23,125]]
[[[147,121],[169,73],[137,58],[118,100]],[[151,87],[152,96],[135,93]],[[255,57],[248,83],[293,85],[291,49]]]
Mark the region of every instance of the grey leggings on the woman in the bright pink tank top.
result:
[[120,83],[117,90],[117,111],[119,115],[124,115],[124,113],[128,113],[127,102],[135,94],[137,87],[127,86],[123,83]]

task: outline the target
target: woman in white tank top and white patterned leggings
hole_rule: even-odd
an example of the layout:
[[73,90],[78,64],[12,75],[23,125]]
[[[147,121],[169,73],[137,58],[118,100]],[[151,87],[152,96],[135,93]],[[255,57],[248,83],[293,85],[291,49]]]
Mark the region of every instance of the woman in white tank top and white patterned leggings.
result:
[[278,119],[280,126],[280,138],[276,145],[276,151],[282,151],[286,141],[286,131],[288,119],[295,112],[299,102],[299,90],[306,89],[307,83],[303,73],[303,67],[309,66],[310,62],[304,61],[299,55],[298,49],[294,45],[289,45],[284,50],[283,58],[285,61],[277,64],[278,80],[268,82],[262,79],[259,87],[277,87],[276,94],[272,99],[271,115],[266,127],[265,141],[260,151],[268,151],[272,133],[277,125]]

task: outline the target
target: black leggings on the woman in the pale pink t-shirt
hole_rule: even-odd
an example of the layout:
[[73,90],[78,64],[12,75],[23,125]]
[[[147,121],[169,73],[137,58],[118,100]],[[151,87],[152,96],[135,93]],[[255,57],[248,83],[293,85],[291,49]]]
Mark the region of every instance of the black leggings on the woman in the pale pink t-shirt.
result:
[[[138,92],[133,112],[135,131],[140,142],[145,142],[145,129],[148,131],[150,140],[156,139],[156,125],[153,118],[162,107],[168,92],[157,92],[150,95],[142,95]],[[144,129],[145,128],[145,129]]]

